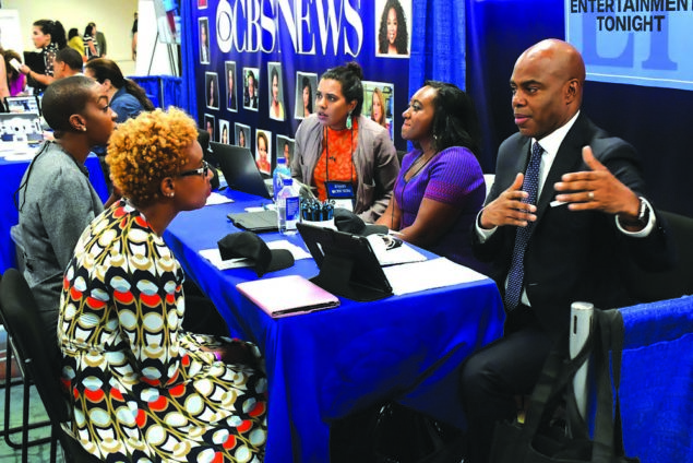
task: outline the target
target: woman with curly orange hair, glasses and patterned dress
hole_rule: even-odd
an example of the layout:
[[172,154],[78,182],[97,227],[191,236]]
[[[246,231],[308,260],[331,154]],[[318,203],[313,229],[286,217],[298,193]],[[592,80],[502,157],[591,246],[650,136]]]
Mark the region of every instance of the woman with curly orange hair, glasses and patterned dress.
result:
[[85,228],[64,272],[58,340],[70,427],[101,461],[264,458],[258,347],[181,328],[196,307],[163,235],[211,194],[196,138],[176,108],[118,127],[107,159],[123,199]]

